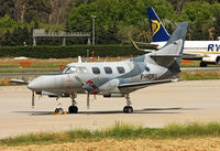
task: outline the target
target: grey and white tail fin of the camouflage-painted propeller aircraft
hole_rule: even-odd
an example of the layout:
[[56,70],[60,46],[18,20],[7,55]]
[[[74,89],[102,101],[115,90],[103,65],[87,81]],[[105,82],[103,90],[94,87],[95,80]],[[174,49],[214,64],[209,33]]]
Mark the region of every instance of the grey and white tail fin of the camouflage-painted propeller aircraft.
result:
[[162,66],[179,68],[187,26],[188,22],[179,23],[166,45],[150,56]]

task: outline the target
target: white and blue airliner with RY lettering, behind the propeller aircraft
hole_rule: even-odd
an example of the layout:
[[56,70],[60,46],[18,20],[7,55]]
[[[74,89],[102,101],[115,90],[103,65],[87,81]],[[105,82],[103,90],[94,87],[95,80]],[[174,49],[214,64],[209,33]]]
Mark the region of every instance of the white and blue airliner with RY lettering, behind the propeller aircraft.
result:
[[[152,46],[163,47],[169,39],[169,34],[158,19],[153,8],[147,8]],[[201,61],[200,66],[220,64],[220,41],[185,41],[183,60]]]

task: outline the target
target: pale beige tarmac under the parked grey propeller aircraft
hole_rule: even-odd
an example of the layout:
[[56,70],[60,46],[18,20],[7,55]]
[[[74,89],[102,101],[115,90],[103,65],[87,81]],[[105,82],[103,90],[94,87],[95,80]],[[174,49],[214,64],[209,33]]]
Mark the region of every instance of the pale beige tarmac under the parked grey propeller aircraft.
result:
[[[117,122],[160,128],[169,123],[209,122],[220,120],[220,80],[183,80],[150,86],[131,94],[133,114],[123,114],[124,98],[78,95],[79,112],[53,115],[55,98],[36,96],[26,86],[0,87],[0,139],[30,132],[54,132],[70,129],[102,129]],[[61,98],[64,110],[70,98]]]

